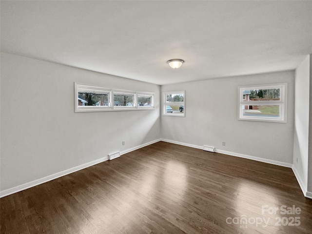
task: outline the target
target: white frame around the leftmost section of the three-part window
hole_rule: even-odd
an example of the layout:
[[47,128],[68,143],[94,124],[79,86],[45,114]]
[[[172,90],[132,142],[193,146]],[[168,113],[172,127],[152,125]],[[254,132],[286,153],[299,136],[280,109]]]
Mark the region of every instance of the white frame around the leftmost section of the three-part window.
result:
[[[108,106],[79,106],[78,105],[78,92],[86,91],[91,93],[108,94]],[[112,110],[112,89],[107,89],[98,86],[87,84],[79,84],[75,82],[75,112],[96,112],[96,111],[109,111]]]

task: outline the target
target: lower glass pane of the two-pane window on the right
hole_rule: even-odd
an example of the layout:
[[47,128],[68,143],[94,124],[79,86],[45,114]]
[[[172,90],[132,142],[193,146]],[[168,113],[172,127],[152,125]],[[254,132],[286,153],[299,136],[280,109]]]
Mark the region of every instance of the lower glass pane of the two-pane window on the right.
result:
[[243,117],[280,117],[279,105],[243,105]]

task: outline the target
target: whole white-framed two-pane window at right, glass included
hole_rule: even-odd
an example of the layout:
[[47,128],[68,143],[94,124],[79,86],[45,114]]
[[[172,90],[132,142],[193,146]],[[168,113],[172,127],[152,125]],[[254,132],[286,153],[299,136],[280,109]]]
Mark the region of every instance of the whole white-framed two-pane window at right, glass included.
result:
[[287,83],[238,87],[238,119],[287,122]]

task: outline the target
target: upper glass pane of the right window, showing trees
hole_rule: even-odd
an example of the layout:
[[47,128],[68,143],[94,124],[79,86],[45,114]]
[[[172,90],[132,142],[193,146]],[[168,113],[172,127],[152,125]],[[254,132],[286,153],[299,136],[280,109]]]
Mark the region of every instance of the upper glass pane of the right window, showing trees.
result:
[[245,101],[279,101],[281,89],[243,89],[242,100]]

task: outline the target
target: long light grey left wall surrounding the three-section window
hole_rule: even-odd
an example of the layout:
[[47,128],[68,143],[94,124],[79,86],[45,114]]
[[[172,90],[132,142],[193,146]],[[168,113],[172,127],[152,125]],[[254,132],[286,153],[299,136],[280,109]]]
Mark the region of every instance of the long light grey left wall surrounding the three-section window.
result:
[[[155,92],[156,110],[74,113],[75,81]],[[0,191],[159,139],[159,92],[155,84],[1,53]]]

